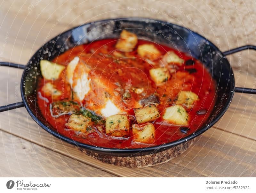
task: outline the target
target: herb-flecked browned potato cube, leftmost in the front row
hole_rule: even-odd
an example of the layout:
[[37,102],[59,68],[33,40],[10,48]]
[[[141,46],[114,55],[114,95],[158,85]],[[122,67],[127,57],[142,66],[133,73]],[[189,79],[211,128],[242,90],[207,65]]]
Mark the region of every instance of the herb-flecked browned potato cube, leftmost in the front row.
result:
[[68,122],[65,125],[68,127],[68,129],[85,133],[86,130],[91,130],[91,127],[89,127],[91,122],[92,120],[89,117],[73,114],[70,115]]

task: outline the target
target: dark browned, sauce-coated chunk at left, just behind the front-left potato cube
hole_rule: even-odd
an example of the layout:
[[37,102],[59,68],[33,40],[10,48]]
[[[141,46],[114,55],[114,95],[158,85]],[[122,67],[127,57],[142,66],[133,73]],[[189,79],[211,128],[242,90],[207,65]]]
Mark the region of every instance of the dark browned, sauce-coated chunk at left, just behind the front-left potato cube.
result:
[[61,115],[71,115],[80,111],[81,106],[76,102],[60,100],[50,104],[51,115],[55,118]]

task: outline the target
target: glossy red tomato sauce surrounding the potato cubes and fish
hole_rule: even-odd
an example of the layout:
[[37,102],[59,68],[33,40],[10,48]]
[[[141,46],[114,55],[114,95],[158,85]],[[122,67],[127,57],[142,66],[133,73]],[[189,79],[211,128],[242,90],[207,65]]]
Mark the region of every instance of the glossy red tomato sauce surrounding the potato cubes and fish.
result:
[[[154,44],[152,42],[139,40],[138,45],[145,43]],[[94,41],[90,44],[79,45],[66,51],[62,55],[56,57],[53,60],[53,62],[67,66],[67,64],[75,56],[78,56],[83,59],[83,57],[87,53],[102,53],[103,56],[112,55],[112,53],[116,50],[115,44],[116,40],[107,39]],[[100,133],[98,131],[86,134],[78,134],[74,130],[68,130],[65,127],[65,123],[68,121],[70,115],[62,115],[58,118],[52,117],[50,112],[50,104],[52,103],[52,101],[56,99],[44,96],[44,93],[42,91],[42,87],[44,86],[44,84],[47,82],[51,82],[62,93],[61,98],[57,100],[71,100],[71,88],[70,85],[65,81],[65,70],[61,73],[60,78],[57,80],[49,81],[44,78],[39,79],[39,84],[37,85],[37,91],[39,91],[37,96],[37,104],[42,115],[45,117],[47,122],[49,122],[49,124],[51,124],[52,127],[54,127],[61,135],[69,137],[81,143],[107,148],[141,148],[152,145],[161,145],[175,140],[179,140],[180,138],[183,138],[187,135],[194,133],[204,124],[204,122],[206,122],[215,105],[215,81],[212,79],[210,73],[204,68],[203,64],[200,63],[198,60],[191,58],[191,56],[188,56],[185,53],[180,53],[177,50],[169,48],[167,46],[158,44],[154,45],[162,53],[162,55],[164,55],[167,51],[174,51],[177,55],[181,56],[184,59],[185,65],[182,65],[182,67],[177,68],[176,73],[172,73],[172,77],[166,82],[166,84],[156,86],[154,82],[151,81],[149,78],[150,76],[148,70],[152,68],[152,64],[149,64],[147,61],[143,59],[134,60],[134,58],[139,57],[135,50],[129,53],[124,53],[124,55],[127,57],[125,59],[125,65],[127,65],[127,63],[131,65],[135,69],[134,74],[126,74],[125,71],[123,71],[123,79],[119,79],[118,81],[121,82],[121,84],[123,83],[123,86],[125,86],[125,83],[129,81],[129,79],[132,79],[132,85],[142,85],[145,90],[148,90],[148,92],[157,93],[160,99],[160,102],[157,106],[160,115],[163,114],[163,111],[166,107],[172,106],[174,104],[175,97],[180,92],[180,90],[188,90],[196,93],[199,97],[199,100],[196,101],[192,109],[187,109],[189,115],[189,130],[187,131],[187,133],[181,131],[183,126],[165,123],[161,117],[153,122],[156,128],[156,141],[154,144],[138,144],[132,142],[132,137],[125,139],[113,138],[107,136],[105,133]],[[190,63],[190,65],[186,65],[186,61],[191,59],[194,61],[194,64],[191,65]],[[97,63],[97,58],[92,58],[92,60],[95,60],[95,63]],[[116,81],[116,77],[115,75],[113,75],[116,71],[116,68],[118,69],[118,65],[120,66],[120,68],[124,68],[125,65],[123,65],[122,62],[116,63],[115,65],[109,65],[108,62],[109,61],[107,59],[104,60],[104,62],[101,61],[97,65],[97,68],[95,70],[100,71],[101,74],[102,71],[104,71],[103,75],[105,76],[105,78],[109,79],[110,81]],[[134,75],[136,76],[136,69],[142,69],[144,71],[144,77],[141,77],[141,80],[133,77]],[[147,81],[143,82],[144,80]],[[90,100],[97,99],[92,99],[91,97]],[[134,115],[133,110],[129,109],[129,104],[126,108],[127,112],[130,115]],[[200,110],[205,111],[206,113],[198,114],[197,112]]]

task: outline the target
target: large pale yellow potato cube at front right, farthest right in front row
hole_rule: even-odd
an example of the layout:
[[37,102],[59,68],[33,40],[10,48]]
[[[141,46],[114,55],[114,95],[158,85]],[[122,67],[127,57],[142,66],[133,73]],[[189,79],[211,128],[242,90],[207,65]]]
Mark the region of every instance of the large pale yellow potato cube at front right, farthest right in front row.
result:
[[167,107],[163,119],[175,125],[188,125],[188,113],[181,105]]

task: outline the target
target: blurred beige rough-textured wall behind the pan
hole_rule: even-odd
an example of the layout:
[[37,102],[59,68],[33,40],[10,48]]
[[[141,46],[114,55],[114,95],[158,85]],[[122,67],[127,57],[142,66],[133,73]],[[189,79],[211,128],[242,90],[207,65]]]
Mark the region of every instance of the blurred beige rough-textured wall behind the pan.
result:
[[[49,28],[54,25],[69,28],[98,19],[146,17],[186,26],[204,35],[222,51],[245,44],[256,45],[256,2],[253,0],[2,0],[0,9],[2,19],[12,14],[24,21],[30,19],[31,25],[37,23]],[[53,25],[47,26],[47,23]],[[254,51],[236,54],[229,61],[236,70],[241,63],[241,71],[250,69],[252,75],[256,72]]]

